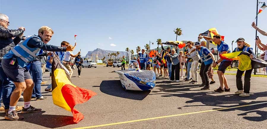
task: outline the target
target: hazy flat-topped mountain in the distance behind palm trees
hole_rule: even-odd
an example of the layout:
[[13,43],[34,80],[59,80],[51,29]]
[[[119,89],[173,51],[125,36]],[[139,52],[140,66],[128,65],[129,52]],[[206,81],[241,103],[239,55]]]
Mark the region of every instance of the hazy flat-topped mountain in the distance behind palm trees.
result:
[[[110,51],[110,50],[102,50],[100,48],[97,48],[96,50],[93,50],[93,51],[88,51],[87,54],[85,55],[85,57],[87,56],[92,56],[93,54],[93,59],[96,57],[96,54],[98,54],[98,59],[100,60],[101,58],[103,58],[104,56],[107,58],[107,55],[109,53],[116,53],[117,51]],[[126,51],[119,51],[120,54],[119,54],[119,57],[122,57],[123,55],[126,56]]]

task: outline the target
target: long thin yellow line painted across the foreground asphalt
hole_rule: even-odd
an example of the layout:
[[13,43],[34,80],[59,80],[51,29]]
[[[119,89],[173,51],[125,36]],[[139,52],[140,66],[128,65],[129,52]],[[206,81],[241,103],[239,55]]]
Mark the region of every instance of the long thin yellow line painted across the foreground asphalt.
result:
[[239,108],[239,107],[245,107],[245,106],[253,106],[253,105],[259,105],[259,104],[264,104],[264,103],[267,103],[267,102],[254,103],[254,104],[248,104],[248,105],[242,105],[242,106],[234,106],[234,107],[222,108],[222,109],[213,109],[213,110],[199,111],[199,112],[190,112],[190,113],[176,114],[176,115],[169,115],[169,116],[152,117],[152,118],[147,118],[147,119],[131,120],[131,121],[110,123],[110,124],[104,124],[104,125],[94,125],[94,126],[88,126],[88,127],[72,128],[72,129],[87,129],[87,128],[96,128],[96,127],[103,127],[103,126],[110,126],[110,125],[119,125],[119,124],[125,124],[125,123],[131,123],[131,122],[139,122],[139,121],[145,121],[145,120],[154,120],[154,119],[161,119],[161,118],[167,118],[167,117],[176,117],[176,116],[182,116],[182,115],[197,114],[197,113],[203,113],[203,112],[212,112],[212,111],[219,111],[219,110],[225,110],[225,109],[233,109],[233,108]]

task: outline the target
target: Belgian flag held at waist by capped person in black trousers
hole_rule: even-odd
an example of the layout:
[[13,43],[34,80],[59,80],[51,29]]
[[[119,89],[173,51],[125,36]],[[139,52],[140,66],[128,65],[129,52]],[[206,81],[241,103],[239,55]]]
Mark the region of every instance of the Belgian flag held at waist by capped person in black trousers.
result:
[[239,52],[220,54],[220,58],[226,60],[239,60],[238,69],[241,71],[267,67],[266,61],[262,59],[251,60],[249,55],[250,54],[247,51],[239,51]]

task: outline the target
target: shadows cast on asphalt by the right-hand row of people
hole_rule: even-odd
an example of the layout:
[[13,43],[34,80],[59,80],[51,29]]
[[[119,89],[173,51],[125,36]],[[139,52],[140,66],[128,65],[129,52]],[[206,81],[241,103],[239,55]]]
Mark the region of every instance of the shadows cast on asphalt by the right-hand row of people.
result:
[[[160,83],[163,83],[163,82],[165,81],[162,81]],[[214,109],[221,109],[221,108],[230,108],[230,107],[235,107],[235,106],[267,102],[267,101],[252,101],[249,103],[244,102],[246,100],[256,100],[257,98],[260,98],[260,97],[266,97],[266,94],[267,94],[266,91],[253,93],[249,97],[241,97],[236,94],[216,93],[216,92],[213,92],[213,90],[203,90],[202,92],[186,93],[185,91],[196,91],[196,90],[191,90],[191,88],[198,87],[198,85],[193,85],[193,84],[188,84],[188,83],[186,84],[173,83],[173,85],[161,84],[161,85],[157,85],[157,87],[158,87],[157,90],[160,90],[160,91],[153,91],[152,93],[160,94],[162,97],[190,98],[191,100],[186,101],[185,103],[201,102],[204,104],[204,105],[188,105],[188,106],[183,106],[183,107],[217,106],[218,108],[214,108]],[[199,89],[200,88],[201,87],[199,87]],[[163,92],[163,93],[160,93],[160,92]],[[150,95],[154,95],[154,94],[150,94]],[[212,94],[222,94],[222,95],[212,95]],[[231,104],[231,106],[224,106],[224,104]],[[182,109],[183,107],[178,107],[178,109]],[[246,107],[225,109],[225,110],[219,110],[219,111],[220,112],[228,112],[228,111],[234,111],[234,110],[246,111],[245,113],[238,114],[238,115],[245,116],[243,118],[246,120],[250,120],[250,121],[264,121],[264,120],[267,120],[267,112],[260,111],[258,109],[265,108],[265,107],[267,107],[267,104],[263,103],[257,106],[246,106]],[[260,116],[247,117],[246,115],[248,113],[256,113],[256,114],[259,114]]]

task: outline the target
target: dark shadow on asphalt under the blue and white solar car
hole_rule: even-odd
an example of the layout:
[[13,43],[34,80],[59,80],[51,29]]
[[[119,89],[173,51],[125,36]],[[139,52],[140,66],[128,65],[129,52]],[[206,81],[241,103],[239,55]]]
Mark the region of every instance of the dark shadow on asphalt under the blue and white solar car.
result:
[[121,98],[128,98],[133,100],[143,100],[150,93],[150,90],[147,91],[134,91],[127,90],[125,91],[121,85],[120,80],[107,80],[102,81],[100,84],[100,91]]

